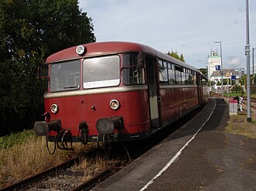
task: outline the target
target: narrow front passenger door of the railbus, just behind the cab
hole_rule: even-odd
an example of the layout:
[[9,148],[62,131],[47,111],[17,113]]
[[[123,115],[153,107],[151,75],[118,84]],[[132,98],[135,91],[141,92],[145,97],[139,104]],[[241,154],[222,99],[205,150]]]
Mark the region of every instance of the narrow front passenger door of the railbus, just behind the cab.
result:
[[161,96],[158,84],[157,60],[146,56],[146,67],[151,127],[159,128],[161,127]]

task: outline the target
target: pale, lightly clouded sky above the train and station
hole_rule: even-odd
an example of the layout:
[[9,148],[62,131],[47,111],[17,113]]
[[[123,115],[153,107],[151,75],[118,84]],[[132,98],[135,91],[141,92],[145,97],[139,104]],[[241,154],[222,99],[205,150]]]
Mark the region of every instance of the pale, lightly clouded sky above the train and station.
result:
[[[97,42],[130,41],[163,53],[178,51],[200,68],[206,67],[211,49],[220,53],[220,43],[213,43],[220,40],[223,68],[246,70],[245,0],[80,0],[79,6],[92,18]],[[256,0],[249,0],[249,14],[250,44],[256,48]]]

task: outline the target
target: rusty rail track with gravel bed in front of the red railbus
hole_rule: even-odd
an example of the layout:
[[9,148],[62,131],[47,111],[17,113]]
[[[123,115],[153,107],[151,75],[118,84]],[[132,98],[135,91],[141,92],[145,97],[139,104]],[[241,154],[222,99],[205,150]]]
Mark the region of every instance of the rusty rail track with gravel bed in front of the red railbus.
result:
[[[122,161],[109,162],[105,169],[95,169],[95,174],[88,175],[92,178],[82,179],[85,176],[84,169],[77,167],[72,169],[74,165],[78,165],[82,161],[94,157],[96,151],[84,153],[74,159],[68,160],[61,165],[56,165],[50,169],[40,172],[27,179],[16,182],[10,186],[0,189],[3,190],[35,190],[35,189],[55,189],[55,190],[89,190],[97,183],[102,182],[115,172],[125,163]],[[98,155],[98,154],[97,154]]]

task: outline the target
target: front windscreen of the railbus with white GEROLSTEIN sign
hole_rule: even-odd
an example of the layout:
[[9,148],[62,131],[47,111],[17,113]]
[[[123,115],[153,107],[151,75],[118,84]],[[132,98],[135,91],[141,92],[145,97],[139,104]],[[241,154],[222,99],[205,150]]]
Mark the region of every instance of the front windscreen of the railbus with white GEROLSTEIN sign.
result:
[[85,59],[83,62],[83,87],[118,86],[120,83],[119,56],[105,56]]

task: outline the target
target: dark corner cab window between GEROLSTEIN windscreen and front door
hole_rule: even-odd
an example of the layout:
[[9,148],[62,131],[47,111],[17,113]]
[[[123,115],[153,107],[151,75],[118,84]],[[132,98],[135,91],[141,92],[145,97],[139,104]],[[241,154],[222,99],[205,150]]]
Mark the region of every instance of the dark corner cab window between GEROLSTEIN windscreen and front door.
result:
[[123,56],[123,84],[144,84],[144,67],[140,64],[139,54],[130,53]]

